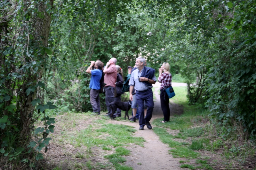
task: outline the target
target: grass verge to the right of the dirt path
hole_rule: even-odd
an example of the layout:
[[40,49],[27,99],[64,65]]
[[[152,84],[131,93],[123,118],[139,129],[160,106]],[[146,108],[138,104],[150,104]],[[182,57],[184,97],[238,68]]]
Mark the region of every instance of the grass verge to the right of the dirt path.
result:
[[256,153],[255,146],[248,143],[239,145],[236,140],[226,142],[226,138],[221,136],[223,128],[218,127],[217,123],[210,123],[208,110],[200,105],[188,105],[187,87],[173,89],[176,96],[170,100],[171,104],[182,105],[184,112],[182,115],[172,115],[166,123],[161,123],[162,119],[155,119],[153,125],[156,127],[153,130],[163,143],[172,148],[169,153],[174,158],[183,159],[180,161],[181,168],[212,170],[246,167],[255,170],[255,166],[246,166],[248,159],[252,164],[255,162],[250,160]]

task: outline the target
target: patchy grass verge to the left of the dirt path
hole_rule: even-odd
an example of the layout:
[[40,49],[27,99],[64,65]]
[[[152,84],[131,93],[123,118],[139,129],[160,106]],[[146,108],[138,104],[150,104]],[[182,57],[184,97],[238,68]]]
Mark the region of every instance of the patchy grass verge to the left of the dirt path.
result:
[[[66,113],[56,116],[55,131],[47,160],[58,169],[118,169],[125,166],[128,146],[143,146],[142,137],[134,137],[136,130],[127,125],[108,123],[106,116],[88,113]],[[61,147],[60,147],[61,146]]]

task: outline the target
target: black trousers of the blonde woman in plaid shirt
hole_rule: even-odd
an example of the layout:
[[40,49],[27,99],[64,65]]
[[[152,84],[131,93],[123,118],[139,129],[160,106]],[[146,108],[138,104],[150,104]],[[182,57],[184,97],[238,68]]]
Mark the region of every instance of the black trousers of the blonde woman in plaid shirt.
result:
[[161,108],[164,114],[164,121],[170,121],[169,97],[164,89],[160,90]]

